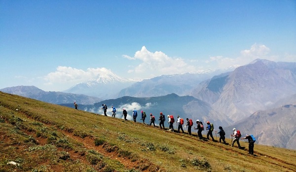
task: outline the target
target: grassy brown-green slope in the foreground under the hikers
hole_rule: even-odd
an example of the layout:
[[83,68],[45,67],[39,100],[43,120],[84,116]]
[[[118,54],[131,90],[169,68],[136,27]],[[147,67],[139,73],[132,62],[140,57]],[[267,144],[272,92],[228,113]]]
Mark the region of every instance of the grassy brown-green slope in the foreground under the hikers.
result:
[[245,142],[242,150],[2,92],[0,115],[0,172],[296,171],[295,150],[256,144],[250,156]]

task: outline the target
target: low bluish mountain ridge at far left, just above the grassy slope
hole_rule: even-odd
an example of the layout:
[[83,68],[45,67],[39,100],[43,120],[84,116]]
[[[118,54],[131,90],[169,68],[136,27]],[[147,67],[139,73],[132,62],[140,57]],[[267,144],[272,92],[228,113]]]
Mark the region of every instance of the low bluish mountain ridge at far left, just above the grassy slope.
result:
[[90,97],[82,94],[43,91],[36,86],[13,86],[0,89],[0,91],[52,104],[71,103],[72,106],[74,102],[77,102],[77,104],[93,104],[102,101],[100,98]]

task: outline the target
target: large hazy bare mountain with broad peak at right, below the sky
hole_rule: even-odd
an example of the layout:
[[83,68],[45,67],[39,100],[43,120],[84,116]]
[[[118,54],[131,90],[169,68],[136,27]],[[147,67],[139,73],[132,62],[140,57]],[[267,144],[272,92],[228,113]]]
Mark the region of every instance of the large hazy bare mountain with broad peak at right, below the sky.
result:
[[200,83],[190,95],[238,121],[292,94],[296,94],[296,63],[257,59]]

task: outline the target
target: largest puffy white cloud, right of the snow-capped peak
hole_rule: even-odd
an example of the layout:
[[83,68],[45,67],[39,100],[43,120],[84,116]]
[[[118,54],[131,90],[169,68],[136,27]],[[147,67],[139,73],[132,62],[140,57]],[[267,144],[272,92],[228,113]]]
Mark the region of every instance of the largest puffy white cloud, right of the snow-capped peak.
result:
[[129,73],[137,74],[149,74],[149,77],[155,77],[164,74],[177,74],[196,71],[195,67],[185,63],[182,58],[168,57],[162,52],[149,52],[145,46],[142,47],[140,51],[135,53],[134,57],[129,57],[123,55],[127,59],[138,59],[142,62],[134,67],[134,69],[129,69]]

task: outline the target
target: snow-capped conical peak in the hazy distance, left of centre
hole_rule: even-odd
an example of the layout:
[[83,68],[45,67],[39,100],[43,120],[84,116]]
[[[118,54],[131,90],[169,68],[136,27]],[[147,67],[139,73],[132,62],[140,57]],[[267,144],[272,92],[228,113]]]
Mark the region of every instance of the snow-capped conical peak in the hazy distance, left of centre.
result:
[[102,68],[96,76],[97,78],[93,80],[78,83],[63,92],[85,94],[103,99],[114,98],[114,95],[116,95],[121,89],[141,81],[119,77],[106,68]]

